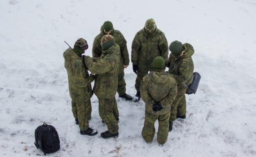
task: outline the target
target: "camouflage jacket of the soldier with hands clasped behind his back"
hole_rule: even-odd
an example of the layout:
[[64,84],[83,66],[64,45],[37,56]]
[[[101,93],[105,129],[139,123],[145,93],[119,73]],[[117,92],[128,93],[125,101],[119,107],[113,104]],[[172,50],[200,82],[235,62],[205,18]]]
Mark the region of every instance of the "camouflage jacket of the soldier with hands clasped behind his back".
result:
[[[171,111],[172,101],[177,95],[177,84],[168,72],[151,71],[143,78],[140,92],[141,99],[146,103],[146,113],[163,115]],[[156,113],[152,109],[155,102],[163,107]]]

